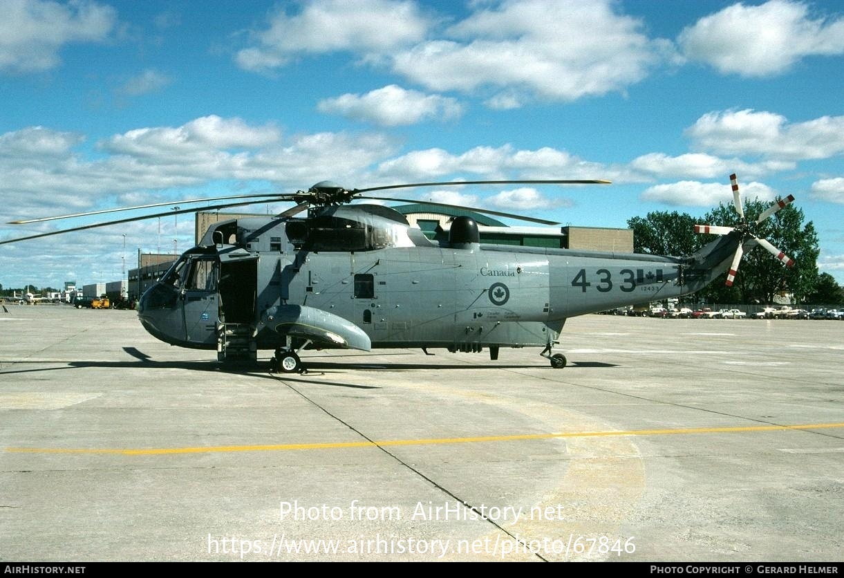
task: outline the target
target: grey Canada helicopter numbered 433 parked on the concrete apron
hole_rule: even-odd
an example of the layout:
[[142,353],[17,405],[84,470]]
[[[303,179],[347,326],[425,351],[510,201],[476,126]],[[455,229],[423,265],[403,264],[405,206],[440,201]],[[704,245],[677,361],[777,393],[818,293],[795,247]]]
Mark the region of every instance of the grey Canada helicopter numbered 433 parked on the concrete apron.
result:
[[[257,361],[273,350],[271,370],[301,373],[306,349],[446,348],[450,352],[542,348],[552,368],[567,365],[554,346],[573,316],[691,294],[728,271],[733,284],[747,251],[762,246],[787,266],[793,261],[754,234],[755,225],[792,203],[778,201],[759,218],[744,216],[738,181],[730,176],[738,213],[734,227],[695,225],[719,235],[690,256],[580,251],[482,244],[475,219],[453,219],[447,240],[429,240],[402,213],[365,193],[414,186],[609,184],[609,181],[449,181],[347,189],[320,181],[307,191],[194,199],[234,201],[187,213],[251,203],[293,201],[267,217],[211,224],[137,303],[143,327],[165,343],[216,350],[221,362]],[[241,201],[241,198],[251,198]],[[255,197],[259,197],[255,200]],[[192,201],[182,201],[187,203]],[[173,203],[155,203],[151,208]],[[454,207],[445,203],[429,203]],[[465,208],[464,208],[465,209]],[[106,209],[107,213],[127,209]],[[471,209],[553,224],[487,209]],[[299,216],[306,211],[306,216]],[[56,235],[168,213],[88,224],[14,240]],[[65,219],[94,213],[30,221]]]

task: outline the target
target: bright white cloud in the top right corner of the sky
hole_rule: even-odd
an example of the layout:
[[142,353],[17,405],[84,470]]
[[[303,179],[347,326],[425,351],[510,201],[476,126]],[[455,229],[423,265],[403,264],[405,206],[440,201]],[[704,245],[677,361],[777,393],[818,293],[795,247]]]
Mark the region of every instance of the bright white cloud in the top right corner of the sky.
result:
[[844,19],[811,19],[807,4],[787,0],[736,3],[684,29],[678,43],[685,57],[721,73],[765,77],[803,57],[844,54]]

